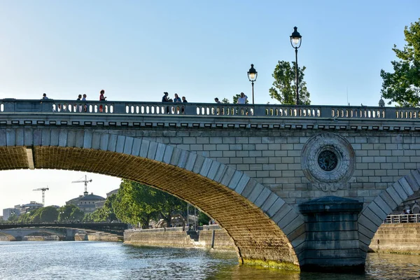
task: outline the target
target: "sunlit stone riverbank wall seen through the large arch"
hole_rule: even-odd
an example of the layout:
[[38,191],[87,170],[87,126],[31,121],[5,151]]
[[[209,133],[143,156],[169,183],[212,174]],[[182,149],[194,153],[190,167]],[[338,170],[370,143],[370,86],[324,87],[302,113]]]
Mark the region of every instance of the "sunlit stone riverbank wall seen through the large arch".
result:
[[140,246],[236,250],[235,243],[225,230],[218,227],[211,228],[211,226],[204,226],[202,230],[197,231],[197,235],[183,228],[125,230],[124,243]]

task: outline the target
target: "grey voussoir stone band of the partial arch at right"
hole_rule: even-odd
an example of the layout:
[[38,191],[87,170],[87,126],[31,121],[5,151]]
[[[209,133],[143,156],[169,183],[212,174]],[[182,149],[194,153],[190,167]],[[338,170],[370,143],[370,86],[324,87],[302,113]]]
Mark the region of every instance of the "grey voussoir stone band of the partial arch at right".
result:
[[358,217],[360,248],[367,253],[378,228],[398,205],[420,189],[420,169],[403,176],[367,204]]

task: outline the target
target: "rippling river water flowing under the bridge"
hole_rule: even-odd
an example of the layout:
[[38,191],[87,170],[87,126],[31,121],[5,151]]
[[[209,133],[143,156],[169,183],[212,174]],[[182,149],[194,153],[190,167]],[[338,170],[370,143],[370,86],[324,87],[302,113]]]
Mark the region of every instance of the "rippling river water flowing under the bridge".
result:
[[234,252],[94,241],[0,241],[0,279],[420,279],[419,255],[371,253],[364,275],[238,265]]

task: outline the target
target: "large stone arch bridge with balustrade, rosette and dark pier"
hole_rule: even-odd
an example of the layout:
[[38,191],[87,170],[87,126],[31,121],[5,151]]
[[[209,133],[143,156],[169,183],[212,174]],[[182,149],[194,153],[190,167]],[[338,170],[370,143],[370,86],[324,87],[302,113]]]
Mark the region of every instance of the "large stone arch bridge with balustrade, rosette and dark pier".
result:
[[414,109],[3,99],[0,169],[145,183],[216,219],[240,262],[354,271],[419,190],[419,131]]

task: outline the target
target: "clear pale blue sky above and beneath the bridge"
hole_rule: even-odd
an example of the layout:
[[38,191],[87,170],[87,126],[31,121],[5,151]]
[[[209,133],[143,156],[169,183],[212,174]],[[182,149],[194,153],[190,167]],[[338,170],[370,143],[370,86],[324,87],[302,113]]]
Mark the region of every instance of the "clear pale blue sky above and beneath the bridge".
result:
[[[419,20],[419,10],[418,0],[0,0],[0,99],[43,92],[99,99],[104,89],[109,100],[160,101],[167,91],[188,102],[232,102],[239,92],[251,99],[246,72],[253,63],[255,103],[276,103],[268,94],[272,73],[279,60],[294,61],[289,36],[297,26],[312,104],[377,106],[379,72],[392,70],[391,48],[403,47],[404,27]],[[82,193],[83,184],[70,182],[83,173],[57,172],[1,172],[0,209],[41,201],[28,190],[45,185],[46,204]],[[98,195],[118,187],[119,179],[91,177]]]

